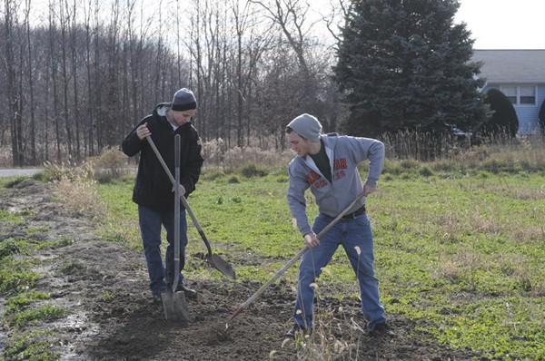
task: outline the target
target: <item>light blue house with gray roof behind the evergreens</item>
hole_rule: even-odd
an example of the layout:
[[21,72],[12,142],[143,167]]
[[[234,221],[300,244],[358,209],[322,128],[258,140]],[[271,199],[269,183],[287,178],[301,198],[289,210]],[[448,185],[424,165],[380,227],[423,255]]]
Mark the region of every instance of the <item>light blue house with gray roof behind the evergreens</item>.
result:
[[482,63],[483,91],[498,89],[512,102],[519,133],[538,132],[540,107],[545,102],[545,49],[474,50],[472,60]]

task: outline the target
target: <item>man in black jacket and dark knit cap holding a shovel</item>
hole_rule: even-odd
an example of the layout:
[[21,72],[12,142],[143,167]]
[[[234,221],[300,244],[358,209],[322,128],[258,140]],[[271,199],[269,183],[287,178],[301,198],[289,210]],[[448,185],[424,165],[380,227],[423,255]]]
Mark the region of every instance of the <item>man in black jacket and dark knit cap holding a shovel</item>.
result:
[[[123,151],[133,156],[140,151],[138,174],[134,185],[133,200],[138,204],[140,231],[144,243],[144,253],[150,276],[150,288],[155,299],[172,284],[174,272],[182,272],[187,245],[187,222],[185,210],[180,212],[180,269],[173,269],[174,238],[174,193],[173,185],[164,172],[153,149],[145,140],[150,136],[163,156],[171,173],[174,174],[174,135],[182,136],[180,164],[180,194],[187,197],[195,190],[199,180],[203,157],[199,134],[193,128],[191,117],[195,115],[197,102],[193,92],[180,89],[173,96],[173,102],[158,104],[151,115],[146,116],[123,141]],[[161,255],[161,225],[166,229],[166,272]],[[166,274],[165,274],[166,273]],[[183,285],[180,275],[178,290],[188,297],[196,296],[193,289]]]

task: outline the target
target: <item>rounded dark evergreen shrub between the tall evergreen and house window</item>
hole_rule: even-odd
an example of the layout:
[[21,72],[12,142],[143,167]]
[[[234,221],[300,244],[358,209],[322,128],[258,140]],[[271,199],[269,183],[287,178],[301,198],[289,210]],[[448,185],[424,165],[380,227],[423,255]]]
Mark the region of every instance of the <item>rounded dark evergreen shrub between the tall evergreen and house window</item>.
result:
[[490,110],[494,113],[490,120],[482,126],[481,132],[484,135],[506,132],[511,138],[517,135],[519,117],[517,117],[517,112],[508,97],[498,89],[490,89],[484,97],[484,102],[490,104]]

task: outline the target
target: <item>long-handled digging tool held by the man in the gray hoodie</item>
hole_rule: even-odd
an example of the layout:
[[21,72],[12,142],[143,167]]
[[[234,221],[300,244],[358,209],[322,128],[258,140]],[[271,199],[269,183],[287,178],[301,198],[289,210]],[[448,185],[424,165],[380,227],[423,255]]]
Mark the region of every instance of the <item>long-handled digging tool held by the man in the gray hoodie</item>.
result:
[[[342,217],[346,214],[346,212],[348,212],[348,210],[351,210],[353,205],[356,204],[359,200],[361,200],[363,198],[365,194],[362,192],[360,192],[360,194],[358,194],[356,196],[356,198],[354,200],[352,200],[352,203],[350,203],[344,210],[342,210],[341,213],[339,213],[339,215],[334,219],[332,220],[324,229],[322,229],[322,231],[316,236],[317,239],[321,239],[323,237],[323,235],[325,235],[330,229],[332,229],[332,227],[339,221],[342,219]],[[239,306],[234,312],[233,312],[233,315],[231,315],[231,317],[229,317],[229,319],[227,320],[227,322],[225,323],[225,327],[220,327],[220,328],[217,328],[215,330],[215,333],[216,335],[219,337],[220,340],[225,340],[225,339],[228,339],[229,335],[228,335],[228,331],[230,330],[231,326],[231,322],[233,321],[234,317],[237,317],[238,315],[240,315],[243,310],[245,308],[247,308],[248,306],[252,305],[253,302],[263,293],[263,291],[268,288],[269,286],[271,286],[272,282],[274,282],[277,278],[281,277],[282,274],[290,267],[292,267],[293,263],[297,262],[298,259],[301,259],[302,258],[302,255],[307,251],[309,250],[308,247],[304,247],[303,249],[301,249],[299,252],[297,252],[297,254],[295,256],[292,257],[292,259],[288,260],[283,266],[282,268],[280,268],[279,270],[276,271],[276,273],[272,276],[271,279],[269,279],[267,282],[265,282],[263,284],[263,286],[261,288],[259,288],[257,291],[255,291],[255,293],[253,293],[253,295],[248,298],[246,300],[246,302],[244,302],[241,306]]]

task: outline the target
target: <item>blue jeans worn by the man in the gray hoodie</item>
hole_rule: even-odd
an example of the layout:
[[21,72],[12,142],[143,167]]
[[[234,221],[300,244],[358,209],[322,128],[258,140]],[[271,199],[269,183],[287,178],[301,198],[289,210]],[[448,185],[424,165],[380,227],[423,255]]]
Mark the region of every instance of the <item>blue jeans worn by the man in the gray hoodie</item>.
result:
[[[318,234],[331,221],[332,217],[319,214],[314,220],[312,231]],[[342,245],[360,283],[362,312],[367,319],[367,327],[372,328],[386,321],[384,307],[379,297],[379,281],[374,276],[372,229],[365,214],[352,220],[339,220],[320,239],[320,245],[308,250],[303,256],[299,268],[297,302],[293,315],[295,323],[302,328],[312,328],[314,288],[312,282],[332,259],[337,247]],[[359,247],[358,255],[355,247]]]

